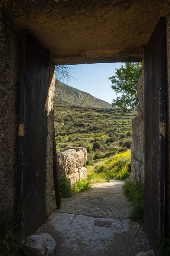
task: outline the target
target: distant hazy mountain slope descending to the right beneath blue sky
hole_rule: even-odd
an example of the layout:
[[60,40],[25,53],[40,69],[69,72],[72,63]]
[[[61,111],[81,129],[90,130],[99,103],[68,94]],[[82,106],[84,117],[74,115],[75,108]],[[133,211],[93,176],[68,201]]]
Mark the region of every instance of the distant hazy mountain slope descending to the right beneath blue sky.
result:
[[79,105],[80,107],[111,108],[111,104],[97,99],[90,93],[68,86],[56,79],[55,103],[58,105]]

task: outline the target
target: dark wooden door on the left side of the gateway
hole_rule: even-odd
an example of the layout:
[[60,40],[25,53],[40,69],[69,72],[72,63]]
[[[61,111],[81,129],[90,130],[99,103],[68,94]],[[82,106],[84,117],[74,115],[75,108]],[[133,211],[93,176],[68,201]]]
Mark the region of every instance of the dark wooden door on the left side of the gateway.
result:
[[[45,169],[50,52],[23,31],[20,60],[18,194],[26,207],[25,235],[45,217]],[[28,212],[27,212],[28,211]]]

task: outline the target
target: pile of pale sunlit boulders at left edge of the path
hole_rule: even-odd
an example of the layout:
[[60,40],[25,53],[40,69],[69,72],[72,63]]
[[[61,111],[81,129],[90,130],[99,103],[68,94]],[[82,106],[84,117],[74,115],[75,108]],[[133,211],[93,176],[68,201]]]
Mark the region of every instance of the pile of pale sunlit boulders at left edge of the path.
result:
[[69,179],[71,188],[77,180],[87,178],[85,166],[87,150],[82,147],[67,147],[61,152],[57,151],[57,166],[59,179],[65,176]]

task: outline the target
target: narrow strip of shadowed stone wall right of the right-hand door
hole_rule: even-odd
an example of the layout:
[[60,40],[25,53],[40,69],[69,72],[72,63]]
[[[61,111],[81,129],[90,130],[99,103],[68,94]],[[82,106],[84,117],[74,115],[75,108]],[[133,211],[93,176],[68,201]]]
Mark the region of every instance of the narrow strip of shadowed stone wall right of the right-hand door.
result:
[[165,232],[170,235],[170,10],[167,15],[167,124],[166,124],[166,191],[165,191]]

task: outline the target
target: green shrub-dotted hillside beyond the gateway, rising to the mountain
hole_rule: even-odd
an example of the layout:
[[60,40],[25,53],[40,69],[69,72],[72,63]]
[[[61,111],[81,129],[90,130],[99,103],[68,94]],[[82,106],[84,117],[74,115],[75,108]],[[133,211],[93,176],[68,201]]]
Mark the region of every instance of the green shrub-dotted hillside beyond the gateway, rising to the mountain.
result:
[[[74,96],[74,92],[83,92],[62,83],[59,86],[54,112],[57,150],[67,146],[85,147],[88,150],[88,164],[93,164],[99,159],[130,148],[131,120],[136,116],[136,111],[122,115],[119,108],[103,108],[103,101],[99,99],[98,108],[83,107],[82,104],[75,103],[79,102],[79,98],[75,100]],[[89,93],[84,93],[83,96],[84,102],[93,99]]]

